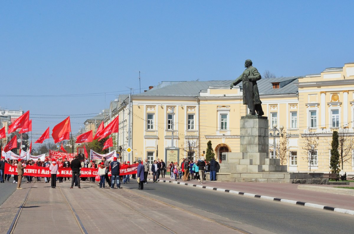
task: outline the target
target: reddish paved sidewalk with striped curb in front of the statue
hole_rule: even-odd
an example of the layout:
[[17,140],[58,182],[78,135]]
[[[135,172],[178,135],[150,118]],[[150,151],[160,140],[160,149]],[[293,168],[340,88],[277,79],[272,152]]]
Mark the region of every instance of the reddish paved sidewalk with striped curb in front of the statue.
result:
[[[152,181],[152,179],[149,179]],[[179,183],[184,185],[184,183],[188,183],[190,186],[195,187],[204,187],[206,189],[212,189],[217,191],[225,192],[224,190],[230,190],[230,193],[234,193],[235,195],[247,195],[250,197],[258,197],[267,200],[273,200],[273,198],[277,198],[274,200],[292,204],[305,205],[314,208],[322,208],[327,210],[334,210],[341,213],[350,213],[354,215],[354,197],[350,195],[341,195],[334,193],[324,193],[324,192],[316,192],[316,191],[308,191],[303,189],[298,189],[297,187],[301,184],[290,184],[290,183],[257,183],[257,182],[219,182],[219,181],[204,181],[202,184],[198,182],[198,180],[190,180],[187,182],[183,182],[182,180],[175,181],[174,179],[170,179],[170,175],[166,175],[165,178],[160,177],[159,182],[164,182],[164,180],[171,183]],[[338,185],[309,185],[309,186],[320,186],[320,187],[335,187]],[[348,185],[347,185],[348,186]],[[353,183],[350,182],[349,187],[353,186]],[[345,187],[345,186],[344,186]],[[236,192],[232,192],[236,191]],[[226,191],[228,192],[228,191]],[[242,194],[247,193],[247,194]],[[255,196],[256,195],[256,196]],[[287,200],[287,201],[286,201]],[[290,201],[289,201],[290,200]],[[295,202],[294,202],[295,201]],[[298,203],[296,203],[298,202]],[[304,204],[310,203],[310,204]],[[316,204],[316,205],[313,205]],[[319,205],[319,206],[318,206]],[[323,206],[329,206],[323,208]],[[332,209],[337,208],[337,209]],[[346,212],[345,210],[350,210]]]

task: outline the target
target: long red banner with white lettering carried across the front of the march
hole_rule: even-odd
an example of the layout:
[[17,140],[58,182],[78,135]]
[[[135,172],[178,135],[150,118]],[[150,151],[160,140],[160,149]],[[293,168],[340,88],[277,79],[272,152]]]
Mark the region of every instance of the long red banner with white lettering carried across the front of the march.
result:
[[[120,175],[131,175],[136,174],[138,169],[138,164],[133,165],[122,165],[120,168]],[[17,175],[17,166],[12,166],[5,163],[4,174]],[[24,169],[24,176],[38,176],[38,177],[50,177],[50,170],[43,166],[26,166]],[[57,176],[58,177],[72,177],[73,172],[71,168],[59,168]],[[81,168],[80,177],[94,177],[98,175],[98,169],[95,168]],[[108,173],[110,176],[110,172]]]

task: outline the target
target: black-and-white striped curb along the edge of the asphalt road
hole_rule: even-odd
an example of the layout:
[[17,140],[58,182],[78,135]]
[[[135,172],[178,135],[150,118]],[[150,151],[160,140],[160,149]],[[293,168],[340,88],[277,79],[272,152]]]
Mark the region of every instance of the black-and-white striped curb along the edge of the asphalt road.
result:
[[[152,179],[148,179],[148,180],[152,180]],[[243,196],[246,196],[246,197],[260,198],[260,199],[272,200],[272,201],[280,201],[280,202],[283,202],[283,203],[288,203],[288,204],[293,204],[293,205],[301,205],[301,206],[306,206],[306,207],[310,207],[310,208],[316,208],[316,209],[322,209],[322,210],[330,210],[330,211],[334,211],[334,212],[338,212],[338,213],[354,215],[354,210],[335,208],[335,207],[332,207],[332,206],[324,206],[324,205],[308,203],[308,202],[304,202],[304,201],[294,201],[294,200],[288,200],[288,199],[282,199],[282,198],[273,198],[273,197],[269,197],[269,196],[257,195],[257,194],[252,194],[252,193],[244,193],[244,192],[238,192],[238,191],[229,190],[229,189],[214,188],[214,187],[202,186],[202,185],[194,185],[194,184],[191,184],[191,183],[183,183],[183,182],[170,181],[170,180],[158,180],[158,182],[160,182],[160,183],[169,182],[169,183],[174,183],[174,184],[177,184],[177,185],[187,185],[187,186],[191,186],[191,187],[205,188],[205,189],[215,190],[215,191],[219,191],[219,192],[243,195]]]

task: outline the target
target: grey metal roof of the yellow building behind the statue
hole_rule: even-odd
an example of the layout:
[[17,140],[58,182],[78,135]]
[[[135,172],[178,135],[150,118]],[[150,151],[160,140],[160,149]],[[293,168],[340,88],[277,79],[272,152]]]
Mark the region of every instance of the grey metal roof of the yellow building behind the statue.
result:
[[[298,76],[268,78],[257,81],[260,94],[272,93],[296,93],[298,87],[293,83],[297,81]],[[228,87],[234,80],[218,81],[162,81],[158,86],[147,90],[144,93],[134,96],[199,96],[201,90],[209,87]],[[272,82],[280,82],[279,89],[273,89]],[[238,86],[242,87],[242,83]]]

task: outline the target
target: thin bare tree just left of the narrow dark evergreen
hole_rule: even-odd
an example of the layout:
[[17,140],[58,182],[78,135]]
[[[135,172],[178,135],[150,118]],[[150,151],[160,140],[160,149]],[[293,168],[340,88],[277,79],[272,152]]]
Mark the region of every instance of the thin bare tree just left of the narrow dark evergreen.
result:
[[318,156],[318,134],[313,132],[312,129],[308,129],[307,133],[302,134],[302,137],[305,138],[302,149],[304,150],[303,153],[306,155],[303,159],[310,164],[311,171],[311,165],[314,164],[315,156]]

